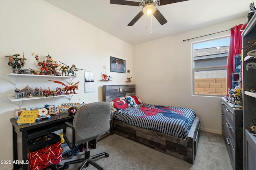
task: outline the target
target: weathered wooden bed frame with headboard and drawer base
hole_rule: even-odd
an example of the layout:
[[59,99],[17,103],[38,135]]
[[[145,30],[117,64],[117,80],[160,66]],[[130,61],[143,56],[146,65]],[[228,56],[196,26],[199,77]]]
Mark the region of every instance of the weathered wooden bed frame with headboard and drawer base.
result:
[[[120,92],[120,88],[122,88],[122,92]],[[125,95],[135,95],[134,84],[103,86],[103,101],[111,102],[115,98]],[[136,127],[122,121],[113,120],[112,122],[115,134],[194,164],[200,137],[200,116],[196,116],[187,139]]]

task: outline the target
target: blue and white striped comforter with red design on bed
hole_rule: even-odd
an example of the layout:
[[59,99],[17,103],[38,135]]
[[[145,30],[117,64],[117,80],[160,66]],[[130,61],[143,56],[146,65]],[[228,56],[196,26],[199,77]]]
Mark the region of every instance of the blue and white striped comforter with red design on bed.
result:
[[114,112],[116,120],[182,139],[187,139],[195,117],[196,113],[189,108],[152,104],[140,104]]

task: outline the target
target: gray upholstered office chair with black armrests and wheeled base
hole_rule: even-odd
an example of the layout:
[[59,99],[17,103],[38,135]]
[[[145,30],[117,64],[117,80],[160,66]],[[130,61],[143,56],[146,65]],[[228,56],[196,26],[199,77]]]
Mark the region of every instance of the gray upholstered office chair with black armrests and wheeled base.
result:
[[82,162],[78,170],[82,170],[84,166],[88,167],[89,163],[98,170],[104,170],[93,159],[99,156],[109,156],[108,152],[102,152],[94,156],[90,156],[88,149],[88,141],[92,141],[110,129],[110,113],[111,106],[108,102],[94,102],[81,106],[74,115],[73,125],[66,122],[63,129],[63,137],[70,149],[74,149],[76,144],[84,143],[86,150],[84,158],[64,163],[64,168],[68,168],[69,164]]

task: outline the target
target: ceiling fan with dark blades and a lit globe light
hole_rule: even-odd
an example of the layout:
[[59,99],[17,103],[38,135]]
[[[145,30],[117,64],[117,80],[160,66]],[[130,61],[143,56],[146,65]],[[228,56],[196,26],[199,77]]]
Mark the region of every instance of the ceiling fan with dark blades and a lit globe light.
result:
[[176,2],[182,2],[186,0],[142,0],[142,2],[134,2],[134,1],[128,1],[128,0],[110,0],[110,4],[118,4],[118,5],[129,5],[129,6],[143,6],[142,11],[140,11],[130,23],[128,23],[128,26],[134,25],[136,21],[140,19],[140,17],[143,16],[143,14],[149,16],[153,15],[156,20],[161,25],[164,25],[167,20],[164,18],[164,16],[160,13],[160,11],[156,8],[156,5],[162,6],[166,4],[173,4]]

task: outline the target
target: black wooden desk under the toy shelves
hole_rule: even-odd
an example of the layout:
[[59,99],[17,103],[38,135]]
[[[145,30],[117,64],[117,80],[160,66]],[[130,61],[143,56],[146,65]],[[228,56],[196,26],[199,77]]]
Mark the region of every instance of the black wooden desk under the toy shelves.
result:
[[[10,119],[12,123],[13,160],[18,160],[18,135],[21,137],[22,140],[22,160],[20,160],[24,163],[22,164],[22,169],[27,170],[27,140],[63,129],[64,122],[68,121],[72,123],[73,119],[74,115],[69,115],[69,113],[52,115],[50,119],[45,118],[32,124],[18,125],[15,118]],[[13,165],[14,170],[18,168],[21,168],[21,165]]]

